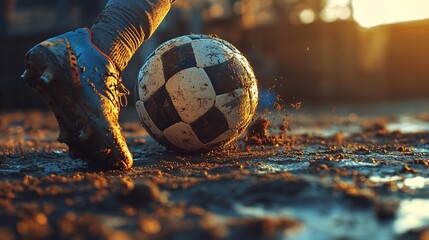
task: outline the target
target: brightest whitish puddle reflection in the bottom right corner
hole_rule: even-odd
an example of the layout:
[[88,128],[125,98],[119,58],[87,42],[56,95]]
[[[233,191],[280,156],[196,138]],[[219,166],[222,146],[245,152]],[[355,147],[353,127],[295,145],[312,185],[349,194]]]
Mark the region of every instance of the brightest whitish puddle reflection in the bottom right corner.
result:
[[396,234],[403,234],[410,230],[420,230],[429,225],[429,200],[407,199],[402,200],[394,222]]

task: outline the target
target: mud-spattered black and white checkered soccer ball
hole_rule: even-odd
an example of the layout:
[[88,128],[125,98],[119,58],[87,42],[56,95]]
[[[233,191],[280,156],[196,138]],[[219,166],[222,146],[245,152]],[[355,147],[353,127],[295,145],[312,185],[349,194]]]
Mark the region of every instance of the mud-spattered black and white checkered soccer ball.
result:
[[258,104],[249,62],[230,43],[207,35],[160,45],[141,68],[135,92],[146,131],[165,147],[186,153],[236,140]]

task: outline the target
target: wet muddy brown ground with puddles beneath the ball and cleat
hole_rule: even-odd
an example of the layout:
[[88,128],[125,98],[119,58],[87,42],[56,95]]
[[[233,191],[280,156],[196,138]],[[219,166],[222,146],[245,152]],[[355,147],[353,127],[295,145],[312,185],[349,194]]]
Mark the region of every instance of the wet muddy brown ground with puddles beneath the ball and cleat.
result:
[[3,112],[0,239],[429,239],[429,113],[260,115],[259,135],[180,156],[131,114],[133,169],[101,172],[51,113]]

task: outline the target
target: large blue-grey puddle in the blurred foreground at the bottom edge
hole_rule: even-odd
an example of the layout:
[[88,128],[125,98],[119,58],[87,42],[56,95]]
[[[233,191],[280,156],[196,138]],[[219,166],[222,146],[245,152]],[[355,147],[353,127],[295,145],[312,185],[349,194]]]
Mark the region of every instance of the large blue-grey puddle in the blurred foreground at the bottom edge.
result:
[[239,214],[250,217],[286,217],[303,223],[294,235],[283,235],[282,239],[392,239],[393,232],[374,218],[373,211],[350,210],[329,203],[307,207],[290,206],[267,209],[259,206],[235,206]]

